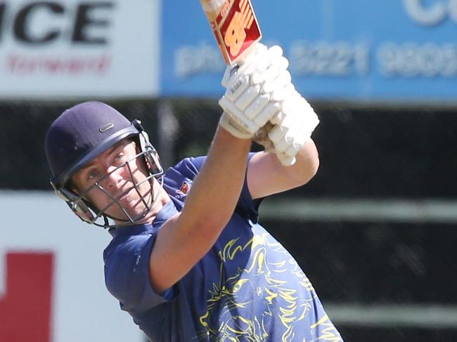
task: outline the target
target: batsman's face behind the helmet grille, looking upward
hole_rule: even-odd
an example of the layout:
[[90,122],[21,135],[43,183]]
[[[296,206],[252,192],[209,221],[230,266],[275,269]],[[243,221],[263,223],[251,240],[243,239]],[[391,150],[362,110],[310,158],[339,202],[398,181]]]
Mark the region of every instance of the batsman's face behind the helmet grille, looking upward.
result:
[[122,140],[72,177],[78,192],[115,221],[128,221],[126,212],[131,218],[141,215],[152,202],[146,165],[137,153],[134,141]]

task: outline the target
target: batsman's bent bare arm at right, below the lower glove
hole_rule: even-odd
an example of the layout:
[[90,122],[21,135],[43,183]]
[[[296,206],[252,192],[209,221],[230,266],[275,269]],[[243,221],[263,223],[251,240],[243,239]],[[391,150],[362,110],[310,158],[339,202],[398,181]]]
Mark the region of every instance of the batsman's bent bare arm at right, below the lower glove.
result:
[[314,141],[307,140],[295,158],[295,164],[283,166],[276,154],[255,154],[247,166],[247,186],[252,198],[266,197],[308,183],[319,167]]

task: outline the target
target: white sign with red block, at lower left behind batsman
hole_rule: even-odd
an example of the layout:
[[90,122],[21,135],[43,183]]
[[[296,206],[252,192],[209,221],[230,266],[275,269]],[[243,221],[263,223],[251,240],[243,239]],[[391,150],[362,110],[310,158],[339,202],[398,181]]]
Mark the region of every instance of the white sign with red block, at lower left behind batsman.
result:
[[53,192],[0,191],[0,208],[0,341],[146,341],[105,288],[108,232]]

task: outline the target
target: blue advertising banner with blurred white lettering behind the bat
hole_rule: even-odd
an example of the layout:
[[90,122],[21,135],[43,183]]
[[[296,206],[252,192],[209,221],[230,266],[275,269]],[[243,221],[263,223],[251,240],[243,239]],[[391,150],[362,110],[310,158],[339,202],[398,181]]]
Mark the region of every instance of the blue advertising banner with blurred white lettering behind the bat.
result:
[[[296,88],[323,100],[457,100],[456,0],[252,0]],[[163,96],[221,96],[224,62],[195,1],[163,1]]]

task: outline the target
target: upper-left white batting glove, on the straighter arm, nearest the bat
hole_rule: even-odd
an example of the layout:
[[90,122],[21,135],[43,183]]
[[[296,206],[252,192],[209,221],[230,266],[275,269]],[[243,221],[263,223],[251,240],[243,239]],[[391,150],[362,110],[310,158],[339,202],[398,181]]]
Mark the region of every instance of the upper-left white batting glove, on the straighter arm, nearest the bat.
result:
[[288,60],[279,46],[257,44],[240,66],[228,67],[222,80],[226,93],[219,100],[224,114],[219,124],[233,136],[252,138],[281,109],[274,91],[290,83]]

